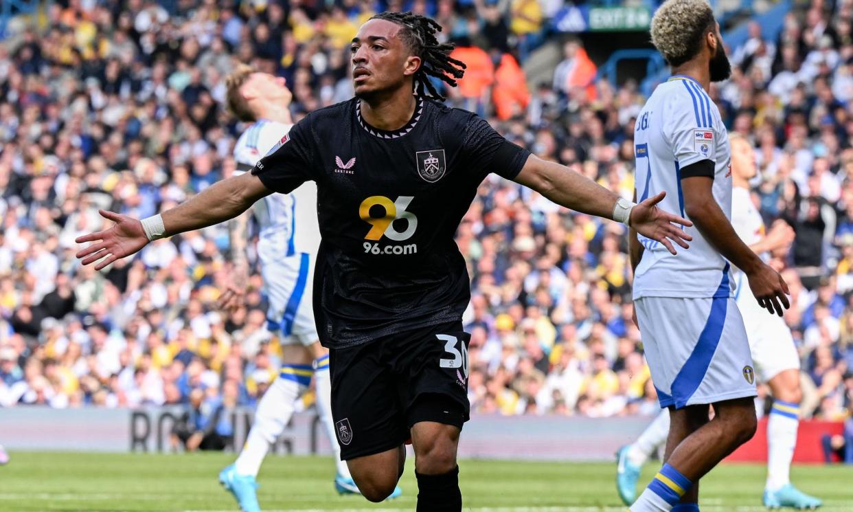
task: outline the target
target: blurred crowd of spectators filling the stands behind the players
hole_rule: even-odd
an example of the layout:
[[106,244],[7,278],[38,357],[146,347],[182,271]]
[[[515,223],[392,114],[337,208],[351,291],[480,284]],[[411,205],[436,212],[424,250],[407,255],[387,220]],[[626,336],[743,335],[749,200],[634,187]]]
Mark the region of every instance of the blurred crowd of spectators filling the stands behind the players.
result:
[[[155,241],[102,272],[78,265],[74,239],[105,227],[99,208],[147,217],[235,171],[246,125],[223,108],[235,63],[286,77],[296,119],[351,97],[348,42],[379,10],[444,26],[469,64],[459,88],[444,89],[448,102],[630,199],[636,82],[594,80],[574,39],[560,41],[554,76],[530,90],[519,67],[561,4],[69,0],[51,3],[38,26],[21,24],[0,41],[0,406],[257,403],[280,340],[265,328],[257,273],[244,307],[216,309],[230,269],[224,226]],[[773,262],[792,292],[804,410],[827,419],[853,400],[850,20],[851,0],[814,0],[778,38],[751,26],[729,49],[732,79],[711,91],[729,130],[754,143],[765,224],[796,231]],[[472,276],[473,410],[658,410],[631,320],[625,235],[486,179],[457,234]]]

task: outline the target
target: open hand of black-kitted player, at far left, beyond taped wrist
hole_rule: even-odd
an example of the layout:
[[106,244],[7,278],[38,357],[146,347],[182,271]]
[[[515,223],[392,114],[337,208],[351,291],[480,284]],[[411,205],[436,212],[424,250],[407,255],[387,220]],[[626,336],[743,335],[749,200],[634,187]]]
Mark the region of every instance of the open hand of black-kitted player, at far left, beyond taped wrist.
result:
[[106,210],[98,210],[98,212],[101,213],[103,218],[112,220],[115,224],[108,230],[77,237],[75,240],[77,243],[85,243],[87,241],[97,242],[78,251],[77,258],[83,259],[80,262],[83,265],[90,265],[101,259],[95,265],[95,270],[100,271],[116,259],[125,258],[137,253],[142,247],[148,244],[148,236],[145,236],[142,223],[136,218],[120,213],[107,212]]

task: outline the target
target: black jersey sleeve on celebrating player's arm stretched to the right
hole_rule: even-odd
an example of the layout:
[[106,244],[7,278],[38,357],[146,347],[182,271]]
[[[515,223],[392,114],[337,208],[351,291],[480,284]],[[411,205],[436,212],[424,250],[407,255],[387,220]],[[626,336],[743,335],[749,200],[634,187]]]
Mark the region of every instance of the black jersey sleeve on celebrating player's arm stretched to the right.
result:
[[467,166],[485,177],[494,172],[514,179],[525,166],[531,152],[510,143],[484,119],[471,113],[465,125],[461,151]]

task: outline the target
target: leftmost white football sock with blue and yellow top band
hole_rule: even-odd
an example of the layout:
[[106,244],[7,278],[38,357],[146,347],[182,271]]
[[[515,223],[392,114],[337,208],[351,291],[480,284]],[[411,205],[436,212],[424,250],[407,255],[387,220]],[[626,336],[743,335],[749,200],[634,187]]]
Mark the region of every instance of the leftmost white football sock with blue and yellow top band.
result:
[[258,476],[270,445],[284,432],[293,416],[293,403],[305,392],[313,369],[307,364],[284,364],[281,374],[264,393],[246,445],[234,463],[237,474]]

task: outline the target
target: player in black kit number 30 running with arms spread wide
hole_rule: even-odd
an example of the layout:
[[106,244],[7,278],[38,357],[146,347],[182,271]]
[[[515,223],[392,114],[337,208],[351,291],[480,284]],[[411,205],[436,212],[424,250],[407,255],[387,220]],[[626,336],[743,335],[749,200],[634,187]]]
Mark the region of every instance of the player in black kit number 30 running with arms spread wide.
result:
[[[468,419],[470,299],[456,227],[490,172],[564,207],[630,224],[675,253],[688,220],[618,199],[565,166],[504,140],[475,114],[444,106],[427,77],[455,85],[464,65],[437,23],[382,13],[352,40],[356,97],[308,114],[251,173],[213,184],[162,215],[78,238],[96,269],[148,241],[234,218],[274,192],[317,183],[322,243],[314,276],[317,332],[330,349],[341,457],[368,500],[388,496],[415,450],[419,512],[461,510],[456,448]],[[437,101],[438,100],[438,101]]]

